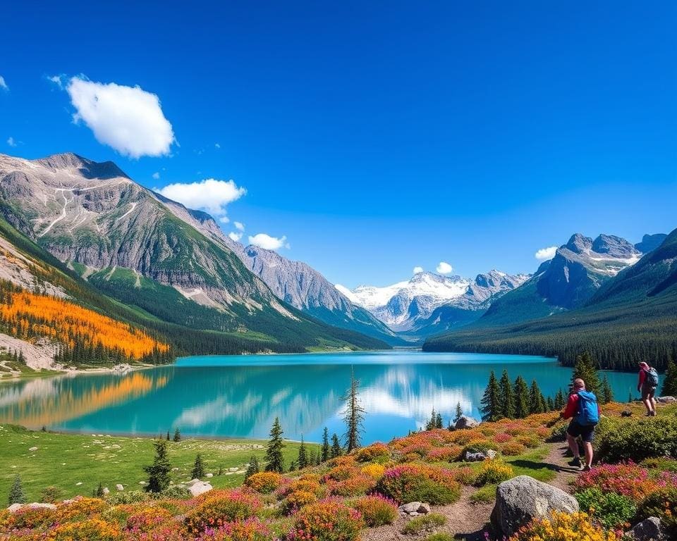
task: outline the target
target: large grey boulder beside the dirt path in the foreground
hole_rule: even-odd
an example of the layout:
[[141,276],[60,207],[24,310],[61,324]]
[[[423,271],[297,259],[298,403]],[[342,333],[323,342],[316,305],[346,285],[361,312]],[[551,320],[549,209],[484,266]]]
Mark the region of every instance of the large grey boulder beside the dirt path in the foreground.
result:
[[518,475],[496,487],[492,526],[497,533],[510,537],[532,518],[545,518],[551,511],[578,510],[576,499],[563,490],[528,475]]

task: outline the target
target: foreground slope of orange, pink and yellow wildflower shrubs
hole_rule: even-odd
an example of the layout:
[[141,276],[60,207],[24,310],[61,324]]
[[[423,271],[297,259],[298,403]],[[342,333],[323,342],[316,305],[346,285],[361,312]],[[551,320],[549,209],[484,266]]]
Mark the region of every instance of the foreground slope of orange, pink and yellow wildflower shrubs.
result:
[[[633,416],[622,418],[621,411],[627,409]],[[637,404],[605,406],[607,418],[600,423],[595,445],[607,449],[608,456],[624,454],[623,437],[632,442],[634,431],[651,433],[656,428],[662,438],[660,454],[643,456],[641,452],[636,461],[606,461],[580,473],[571,485],[580,513],[532,521],[511,541],[620,541],[630,523],[647,516],[661,517],[669,528],[677,526],[673,518],[677,461],[663,452],[677,442],[677,430],[659,429],[677,420],[677,406],[661,407],[659,417],[650,419],[639,418],[640,411]],[[142,490],[94,498],[83,491],[85,497],[59,503],[56,509],[0,511],[0,539],[354,541],[368,528],[397,521],[398,505],[412,501],[432,504],[433,513],[415,524],[409,521],[402,535],[423,540],[437,531],[438,537],[431,539],[445,538],[444,516],[436,509],[458,502],[462,494],[470,492],[468,505],[473,505],[473,501],[490,501],[496,485],[515,475],[550,480],[554,473],[541,460],[547,454],[547,441],[561,438],[564,425],[557,413],[540,413],[482,423],[469,430],[428,430],[388,444],[372,444],[301,471],[253,473],[239,487],[218,487],[193,498]],[[28,435],[41,436],[25,433],[22,437]],[[495,459],[463,460],[466,452],[487,449],[497,452]],[[289,457],[294,451],[291,445],[286,448]],[[187,449],[170,447],[169,456],[185,467],[190,463]],[[219,455],[216,449],[205,456],[210,467],[219,461],[226,464],[226,454]],[[150,458],[149,451],[142,462],[149,464]],[[247,459],[245,452],[238,460]],[[139,479],[140,472],[139,465]],[[181,474],[185,477],[185,471]],[[216,485],[216,477],[210,480]],[[420,528],[415,527],[419,523]]]

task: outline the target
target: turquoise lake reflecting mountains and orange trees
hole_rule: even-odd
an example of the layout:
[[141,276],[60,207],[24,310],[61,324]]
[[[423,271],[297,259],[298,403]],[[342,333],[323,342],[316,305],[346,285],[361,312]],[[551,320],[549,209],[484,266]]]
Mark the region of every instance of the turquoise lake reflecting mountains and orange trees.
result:
[[[449,422],[456,404],[479,416],[490,371],[537,380],[546,396],[566,390],[571,368],[546,357],[420,351],[194,356],[126,374],[59,375],[0,384],[0,423],[83,433],[265,438],[279,416],[285,437],[343,433],[341,397],[360,380],[363,442],[425,425],[434,408]],[[616,399],[636,375],[608,372]],[[633,394],[636,394],[633,392]]]

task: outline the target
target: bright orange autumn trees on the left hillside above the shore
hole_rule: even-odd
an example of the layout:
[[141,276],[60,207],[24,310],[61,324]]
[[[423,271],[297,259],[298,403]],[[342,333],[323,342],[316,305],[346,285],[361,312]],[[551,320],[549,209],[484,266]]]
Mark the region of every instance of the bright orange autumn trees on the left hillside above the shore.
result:
[[8,334],[32,341],[59,342],[56,361],[110,363],[166,361],[169,346],[128,323],[83,308],[66,299],[30,293],[3,284],[0,323]]

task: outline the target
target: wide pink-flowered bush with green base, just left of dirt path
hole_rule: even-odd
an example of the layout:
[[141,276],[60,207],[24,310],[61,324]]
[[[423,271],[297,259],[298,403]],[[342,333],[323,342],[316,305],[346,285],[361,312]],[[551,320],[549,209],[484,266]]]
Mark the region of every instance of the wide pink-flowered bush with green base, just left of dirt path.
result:
[[379,479],[377,492],[398,503],[451,504],[461,495],[453,472],[432,466],[403,464],[389,468]]

